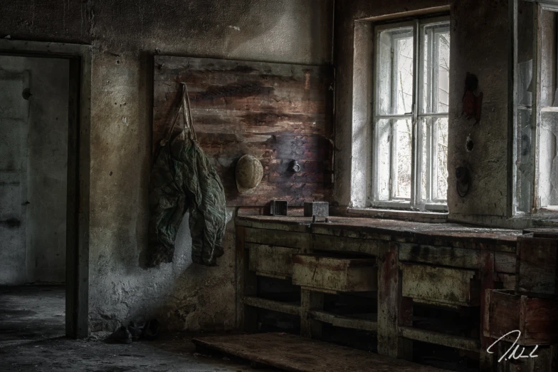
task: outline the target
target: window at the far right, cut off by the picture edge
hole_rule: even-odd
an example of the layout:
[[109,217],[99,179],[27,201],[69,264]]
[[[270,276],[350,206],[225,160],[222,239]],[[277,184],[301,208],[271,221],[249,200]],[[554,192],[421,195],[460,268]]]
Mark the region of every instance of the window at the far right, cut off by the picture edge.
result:
[[558,212],[558,6],[515,3],[512,212]]

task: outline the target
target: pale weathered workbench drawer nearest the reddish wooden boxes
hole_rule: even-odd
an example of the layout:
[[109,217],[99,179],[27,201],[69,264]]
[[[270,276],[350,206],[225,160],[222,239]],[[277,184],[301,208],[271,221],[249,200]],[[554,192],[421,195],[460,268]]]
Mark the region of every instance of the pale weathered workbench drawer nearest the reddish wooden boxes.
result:
[[400,264],[402,295],[418,301],[459,306],[478,306],[480,280],[475,271]]

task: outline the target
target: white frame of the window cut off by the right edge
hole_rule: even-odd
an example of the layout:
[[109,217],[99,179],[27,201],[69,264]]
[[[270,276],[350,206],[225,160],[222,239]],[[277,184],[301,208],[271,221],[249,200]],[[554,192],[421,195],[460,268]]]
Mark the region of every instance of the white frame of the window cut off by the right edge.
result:
[[[518,68],[518,47],[517,47],[517,21],[518,21],[518,14],[517,14],[517,6],[519,1],[529,1],[531,3],[535,3],[534,9],[534,19],[533,19],[533,26],[534,26],[534,33],[533,33],[533,58],[532,58],[532,105],[521,105],[518,102],[519,90],[518,90],[518,81],[520,79],[519,73],[520,68]],[[552,205],[550,207],[542,207],[540,205],[540,198],[539,198],[539,177],[540,177],[540,157],[539,157],[539,147],[540,147],[540,135],[541,130],[539,129],[541,123],[541,113],[544,109],[541,107],[541,90],[540,87],[542,86],[542,72],[541,72],[541,61],[542,61],[542,30],[539,27],[539,17],[542,11],[554,11],[558,14],[558,0],[513,0],[513,54],[512,54],[512,66],[513,66],[513,114],[512,114],[512,217],[557,217],[558,216],[558,205]],[[558,43],[558,28],[557,28],[557,35],[556,42]],[[558,74],[558,58],[557,61],[557,74]],[[557,81],[558,83],[558,81]],[[533,169],[533,177],[532,180],[527,180],[530,182],[532,186],[532,191],[530,193],[530,205],[531,208],[529,211],[520,211],[517,209],[518,205],[518,198],[520,195],[517,195],[517,185],[518,182],[521,182],[517,175],[517,167],[515,162],[518,158],[517,154],[517,140],[518,140],[518,128],[517,128],[517,121],[518,121],[518,110],[535,110],[535,115],[531,115],[531,144],[530,144],[530,156],[535,159],[533,162],[532,167]],[[525,181],[525,180],[524,180]]]

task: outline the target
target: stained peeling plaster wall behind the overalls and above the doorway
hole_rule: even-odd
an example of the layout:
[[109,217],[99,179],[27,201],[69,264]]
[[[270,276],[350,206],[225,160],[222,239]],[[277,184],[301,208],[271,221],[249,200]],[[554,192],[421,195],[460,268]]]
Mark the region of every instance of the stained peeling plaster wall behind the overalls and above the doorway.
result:
[[[190,261],[187,225],[172,264],[143,269],[155,53],[330,63],[332,0],[10,1],[0,37],[93,45],[90,328],[158,316],[173,329],[234,326],[234,227],[219,267]],[[234,210],[229,210],[229,219]]]

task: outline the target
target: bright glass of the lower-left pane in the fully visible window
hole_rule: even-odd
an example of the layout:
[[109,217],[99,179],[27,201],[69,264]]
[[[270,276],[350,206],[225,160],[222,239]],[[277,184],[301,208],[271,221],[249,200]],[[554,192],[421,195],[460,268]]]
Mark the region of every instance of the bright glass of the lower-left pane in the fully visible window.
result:
[[[395,120],[394,120],[395,121]],[[394,128],[394,180],[393,194],[396,198],[411,198],[411,153],[413,130],[411,120],[396,120]]]

